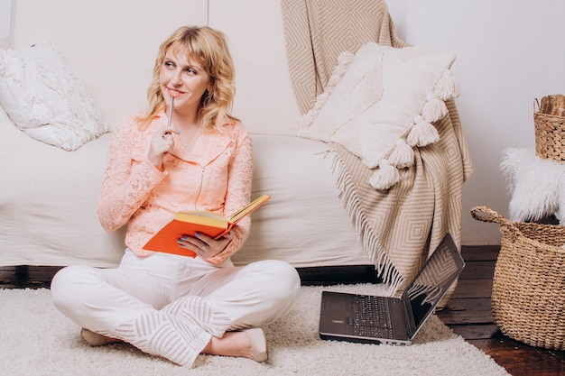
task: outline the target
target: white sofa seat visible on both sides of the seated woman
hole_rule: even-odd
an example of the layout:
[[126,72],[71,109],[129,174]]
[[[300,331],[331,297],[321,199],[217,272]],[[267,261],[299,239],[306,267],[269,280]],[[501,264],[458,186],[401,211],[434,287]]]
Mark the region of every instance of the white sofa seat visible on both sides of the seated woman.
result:
[[[18,131],[0,108],[0,160],[5,160],[3,174],[11,177],[10,184],[0,186],[5,250],[0,266],[116,266],[125,249],[125,227],[108,234],[96,214],[111,137],[104,134],[69,154]],[[252,197],[268,193],[273,198],[252,215],[251,234],[232,256],[234,263],[370,265],[338,197],[328,145],[293,136],[252,137]]]

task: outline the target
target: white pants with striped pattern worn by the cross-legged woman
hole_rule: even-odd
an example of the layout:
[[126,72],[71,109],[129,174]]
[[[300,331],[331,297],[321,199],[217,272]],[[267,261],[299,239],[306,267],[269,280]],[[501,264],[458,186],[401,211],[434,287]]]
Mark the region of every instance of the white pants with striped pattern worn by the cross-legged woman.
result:
[[182,365],[191,365],[212,335],[285,315],[299,291],[298,273],[283,261],[215,266],[129,250],[116,269],[69,266],[51,282],[55,307],[78,326]]

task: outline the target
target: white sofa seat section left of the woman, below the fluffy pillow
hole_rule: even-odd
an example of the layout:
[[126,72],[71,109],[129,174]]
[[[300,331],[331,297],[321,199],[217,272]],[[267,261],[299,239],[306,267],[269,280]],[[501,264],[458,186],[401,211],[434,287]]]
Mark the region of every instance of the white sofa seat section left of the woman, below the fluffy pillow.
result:
[[108,234],[96,206],[112,133],[69,152],[20,132],[0,108],[0,266],[115,266],[124,230]]

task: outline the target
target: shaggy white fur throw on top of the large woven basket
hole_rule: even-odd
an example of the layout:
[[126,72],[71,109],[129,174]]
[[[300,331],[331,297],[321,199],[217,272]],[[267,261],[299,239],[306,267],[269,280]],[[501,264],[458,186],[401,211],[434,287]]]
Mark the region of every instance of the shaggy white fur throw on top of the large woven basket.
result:
[[503,151],[500,169],[512,196],[508,214],[511,221],[537,221],[554,215],[565,218],[565,165],[542,159],[529,149]]

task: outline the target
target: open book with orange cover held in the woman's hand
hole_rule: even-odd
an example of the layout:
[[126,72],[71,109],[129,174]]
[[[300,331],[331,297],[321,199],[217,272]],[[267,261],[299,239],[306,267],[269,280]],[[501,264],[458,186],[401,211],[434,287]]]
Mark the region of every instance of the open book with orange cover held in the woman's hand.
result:
[[145,243],[144,250],[196,257],[196,253],[182,248],[177,243],[182,235],[195,236],[199,232],[218,239],[227,234],[242,218],[249,216],[270,199],[271,196],[269,195],[257,197],[229,218],[206,211],[176,212],[171,220],[163,225],[157,233],[153,234],[149,242]]

